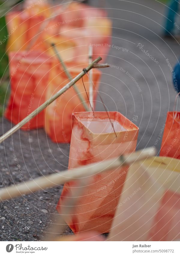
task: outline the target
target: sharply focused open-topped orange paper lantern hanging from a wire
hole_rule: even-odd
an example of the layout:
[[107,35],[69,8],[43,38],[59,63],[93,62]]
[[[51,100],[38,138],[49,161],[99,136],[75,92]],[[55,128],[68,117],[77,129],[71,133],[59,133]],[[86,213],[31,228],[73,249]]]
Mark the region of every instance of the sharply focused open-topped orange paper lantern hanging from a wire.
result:
[[[107,113],[94,114],[95,117],[90,112],[73,113],[70,169],[131,153],[136,148],[139,128],[125,116],[119,112],[109,112],[116,137]],[[93,177],[91,184],[84,188],[75,211],[68,216],[67,224],[73,232],[109,232],[127,170],[127,167],[122,167]],[[57,205],[59,213],[64,199],[73,195],[76,186],[74,182],[64,184]]]

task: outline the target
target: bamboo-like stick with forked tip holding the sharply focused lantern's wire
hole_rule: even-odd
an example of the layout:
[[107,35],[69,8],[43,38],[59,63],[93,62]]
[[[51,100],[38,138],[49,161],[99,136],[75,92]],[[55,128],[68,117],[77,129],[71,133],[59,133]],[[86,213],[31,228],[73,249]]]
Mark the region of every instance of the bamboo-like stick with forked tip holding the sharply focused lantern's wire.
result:
[[[98,57],[95,59],[90,65],[88,65],[85,70],[88,72],[91,70],[91,68],[94,68],[93,64],[98,63],[101,61],[102,58]],[[59,90],[57,93],[55,93],[49,100],[46,100],[41,106],[39,106],[37,109],[35,109],[31,114],[26,116],[21,122],[19,122],[17,125],[15,125],[12,129],[7,131],[5,134],[3,134],[0,137],[0,143],[7,139],[10,135],[12,135],[15,131],[19,130],[23,125],[25,125],[27,122],[29,122],[33,117],[38,115],[39,112],[41,112],[43,109],[45,109],[49,104],[51,104],[55,99],[57,99],[62,93],[64,93],[67,89],[69,89],[73,84],[75,84],[81,77],[85,75],[85,71],[82,71],[79,73],[76,77],[74,77],[68,84],[66,84],[61,90]]]

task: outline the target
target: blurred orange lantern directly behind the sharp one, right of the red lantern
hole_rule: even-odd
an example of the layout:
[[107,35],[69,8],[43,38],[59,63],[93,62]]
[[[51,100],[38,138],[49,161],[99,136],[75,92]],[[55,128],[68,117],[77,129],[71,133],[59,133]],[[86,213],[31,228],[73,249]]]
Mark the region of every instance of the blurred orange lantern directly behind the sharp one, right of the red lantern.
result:
[[[87,63],[66,63],[68,71],[72,77],[79,74]],[[101,72],[97,69],[92,70],[93,82],[96,89],[99,87]],[[88,93],[89,83],[88,77],[83,77],[84,85]],[[64,87],[69,82],[67,75],[62,70],[61,64],[55,61],[53,68],[49,74],[49,85],[46,92],[46,99],[49,99],[58,90]],[[46,133],[54,142],[69,143],[71,138],[71,116],[75,111],[85,111],[84,106],[79,100],[73,87],[77,87],[82,96],[84,97],[86,104],[88,105],[88,98],[85,93],[85,89],[82,80],[79,80],[76,85],[73,85],[64,92],[57,100],[52,102],[45,110],[45,124]],[[96,98],[96,91],[94,92],[94,100]]]

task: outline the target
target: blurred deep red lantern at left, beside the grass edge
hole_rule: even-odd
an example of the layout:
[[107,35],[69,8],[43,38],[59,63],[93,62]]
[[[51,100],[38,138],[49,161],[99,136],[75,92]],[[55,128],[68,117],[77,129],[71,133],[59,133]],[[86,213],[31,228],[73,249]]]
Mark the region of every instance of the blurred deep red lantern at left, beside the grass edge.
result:
[[[49,70],[49,57],[40,52],[10,52],[10,99],[5,117],[14,124],[19,123],[45,101]],[[22,129],[44,126],[44,111],[30,120]]]

